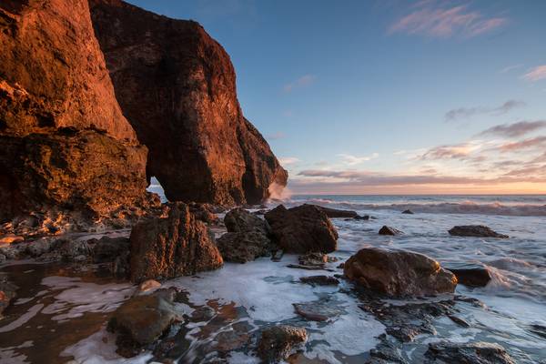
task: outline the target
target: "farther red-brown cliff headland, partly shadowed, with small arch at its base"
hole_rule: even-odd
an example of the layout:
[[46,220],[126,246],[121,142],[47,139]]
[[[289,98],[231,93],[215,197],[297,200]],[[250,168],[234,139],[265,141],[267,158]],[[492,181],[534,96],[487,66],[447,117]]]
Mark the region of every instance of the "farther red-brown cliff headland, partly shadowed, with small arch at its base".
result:
[[90,0],[116,97],[170,200],[258,203],[287,172],[243,116],[229,56],[195,22]]

